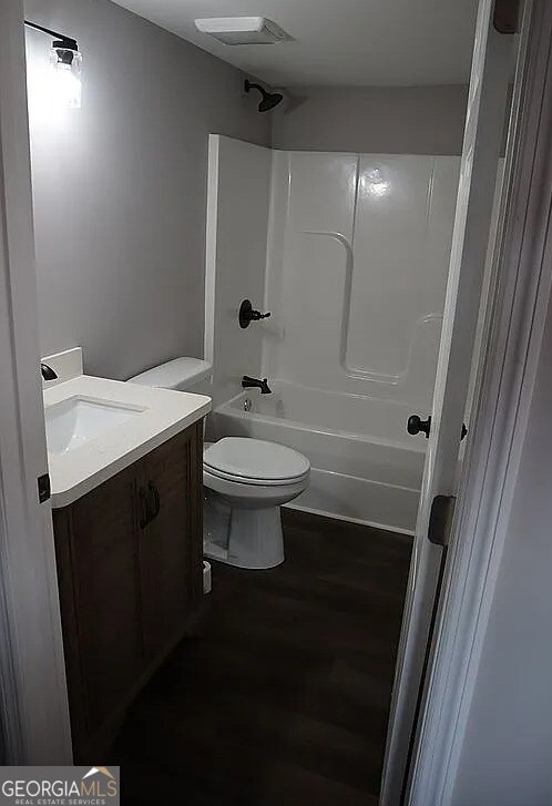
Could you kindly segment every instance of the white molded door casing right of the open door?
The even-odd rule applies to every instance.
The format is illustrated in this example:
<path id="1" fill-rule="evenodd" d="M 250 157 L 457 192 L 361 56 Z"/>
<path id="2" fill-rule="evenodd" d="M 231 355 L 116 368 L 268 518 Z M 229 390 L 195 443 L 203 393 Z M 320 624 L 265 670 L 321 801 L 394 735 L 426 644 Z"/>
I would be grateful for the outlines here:
<path id="1" fill-rule="evenodd" d="M 532 8 L 533 6 L 533 8 Z M 442 621 L 409 803 L 450 804 L 505 528 L 552 286 L 552 6 L 525 8 L 525 73 L 518 83 L 518 131 L 492 336 L 446 580 Z"/>

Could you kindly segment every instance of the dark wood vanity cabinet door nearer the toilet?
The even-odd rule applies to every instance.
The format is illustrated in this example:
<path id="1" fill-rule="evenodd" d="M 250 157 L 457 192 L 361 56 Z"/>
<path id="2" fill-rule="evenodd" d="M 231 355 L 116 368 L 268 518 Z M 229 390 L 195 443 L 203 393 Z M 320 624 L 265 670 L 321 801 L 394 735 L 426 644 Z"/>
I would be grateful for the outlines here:
<path id="1" fill-rule="evenodd" d="M 140 532 L 142 619 L 152 659 L 182 635 L 203 595 L 202 425 L 153 451 L 141 492 L 150 523 Z"/>

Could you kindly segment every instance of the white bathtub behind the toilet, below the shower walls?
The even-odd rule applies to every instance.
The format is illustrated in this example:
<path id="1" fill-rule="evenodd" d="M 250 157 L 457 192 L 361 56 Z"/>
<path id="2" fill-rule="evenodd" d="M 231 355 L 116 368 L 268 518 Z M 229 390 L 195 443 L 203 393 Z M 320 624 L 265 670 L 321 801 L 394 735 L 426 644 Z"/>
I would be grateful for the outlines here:
<path id="1" fill-rule="evenodd" d="M 412 534 L 425 445 L 406 431 L 402 404 L 270 381 L 213 412 L 222 437 L 266 439 L 310 460 L 309 489 L 289 507 Z"/>

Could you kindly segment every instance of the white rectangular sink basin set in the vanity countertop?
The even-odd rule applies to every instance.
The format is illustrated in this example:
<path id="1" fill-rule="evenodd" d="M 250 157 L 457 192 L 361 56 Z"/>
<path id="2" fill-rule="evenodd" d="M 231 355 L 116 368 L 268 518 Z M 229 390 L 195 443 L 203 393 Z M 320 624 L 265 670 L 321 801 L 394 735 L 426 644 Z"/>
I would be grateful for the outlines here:
<path id="1" fill-rule="evenodd" d="M 48 451 L 69 453 L 144 410 L 79 396 L 47 406 Z"/>

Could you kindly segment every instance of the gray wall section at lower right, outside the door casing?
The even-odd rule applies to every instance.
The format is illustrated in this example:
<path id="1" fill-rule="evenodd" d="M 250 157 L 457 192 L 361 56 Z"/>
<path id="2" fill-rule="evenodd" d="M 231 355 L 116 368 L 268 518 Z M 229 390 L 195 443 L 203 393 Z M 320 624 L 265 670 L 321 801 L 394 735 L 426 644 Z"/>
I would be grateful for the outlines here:
<path id="1" fill-rule="evenodd" d="M 552 803 L 552 309 L 453 806 Z"/>

